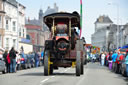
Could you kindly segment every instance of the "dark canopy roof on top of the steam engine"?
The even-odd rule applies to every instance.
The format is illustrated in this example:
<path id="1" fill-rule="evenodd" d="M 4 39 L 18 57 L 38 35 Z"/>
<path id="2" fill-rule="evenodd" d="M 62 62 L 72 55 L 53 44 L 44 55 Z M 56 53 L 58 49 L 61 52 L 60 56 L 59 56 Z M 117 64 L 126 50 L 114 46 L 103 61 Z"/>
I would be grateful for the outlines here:
<path id="1" fill-rule="evenodd" d="M 49 27 L 53 25 L 53 20 L 55 21 L 55 25 L 58 23 L 64 23 L 69 25 L 69 20 L 71 19 L 71 27 L 78 27 L 80 29 L 80 15 L 77 12 L 73 13 L 53 13 L 44 17 L 44 23 Z"/>

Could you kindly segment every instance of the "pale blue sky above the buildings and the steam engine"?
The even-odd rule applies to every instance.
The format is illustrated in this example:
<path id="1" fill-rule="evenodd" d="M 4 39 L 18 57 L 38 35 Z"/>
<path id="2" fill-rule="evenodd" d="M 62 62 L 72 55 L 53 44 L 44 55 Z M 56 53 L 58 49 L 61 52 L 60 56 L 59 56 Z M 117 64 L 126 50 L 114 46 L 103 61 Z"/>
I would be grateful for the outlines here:
<path id="1" fill-rule="evenodd" d="M 53 8 L 54 3 L 59 11 L 80 13 L 80 0 L 17 0 L 26 7 L 26 18 L 38 18 L 40 9 L 45 12 L 47 7 Z M 117 6 L 119 7 L 119 24 L 128 23 L 128 0 L 82 0 L 83 25 L 82 36 L 87 43 L 91 43 L 91 35 L 95 32 L 94 22 L 100 15 L 107 15 L 116 24 Z M 111 4 L 109 4 L 111 3 Z"/>

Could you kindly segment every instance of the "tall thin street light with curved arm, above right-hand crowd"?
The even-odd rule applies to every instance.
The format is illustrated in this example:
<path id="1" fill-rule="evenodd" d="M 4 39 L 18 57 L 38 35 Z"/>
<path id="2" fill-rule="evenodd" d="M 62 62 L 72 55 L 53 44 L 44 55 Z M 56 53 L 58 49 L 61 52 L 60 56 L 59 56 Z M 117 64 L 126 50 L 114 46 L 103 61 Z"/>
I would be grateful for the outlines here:
<path id="1" fill-rule="evenodd" d="M 116 32 L 116 36 L 117 36 L 117 46 L 116 48 L 118 49 L 119 47 L 119 39 L 118 39 L 118 35 L 119 35 L 119 4 L 117 3 L 108 3 L 108 5 L 115 5 L 117 7 L 117 32 Z"/>

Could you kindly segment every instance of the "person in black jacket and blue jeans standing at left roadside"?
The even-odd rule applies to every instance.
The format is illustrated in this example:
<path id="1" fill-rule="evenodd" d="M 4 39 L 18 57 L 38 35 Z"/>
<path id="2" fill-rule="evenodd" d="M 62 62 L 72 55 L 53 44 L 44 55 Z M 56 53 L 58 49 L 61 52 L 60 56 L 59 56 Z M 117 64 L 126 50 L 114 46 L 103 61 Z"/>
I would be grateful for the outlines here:
<path id="1" fill-rule="evenodd" d="M 12 47 L 12 49 L 9 52 L 9 56 L 10 56 L 10 72 L 14 73 L 16 72 L 16 51 L 14 50 L 14 47 Z"/>

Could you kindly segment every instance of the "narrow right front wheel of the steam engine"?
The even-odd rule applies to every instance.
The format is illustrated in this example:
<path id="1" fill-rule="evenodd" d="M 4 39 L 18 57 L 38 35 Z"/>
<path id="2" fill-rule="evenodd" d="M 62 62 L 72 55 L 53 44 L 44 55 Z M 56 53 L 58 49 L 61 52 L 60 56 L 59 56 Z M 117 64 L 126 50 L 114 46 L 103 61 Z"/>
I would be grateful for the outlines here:
<path id="1" fill-rule="evenodd" d="M 77 51 L 77 54 L 76 54 L 76 76 L 80 76 L 80 74 L 81 74 L 80 51 Z"/>

